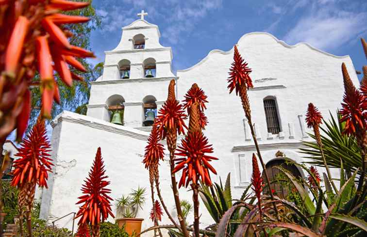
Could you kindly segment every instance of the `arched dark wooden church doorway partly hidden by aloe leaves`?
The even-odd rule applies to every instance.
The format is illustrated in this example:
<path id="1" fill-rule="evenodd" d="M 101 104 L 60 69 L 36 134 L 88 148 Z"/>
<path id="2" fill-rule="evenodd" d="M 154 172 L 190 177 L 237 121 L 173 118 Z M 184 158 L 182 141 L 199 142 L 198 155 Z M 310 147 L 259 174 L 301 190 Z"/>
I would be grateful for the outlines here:
<path id="1" fill-rule="evenodd" d="M 270 182 L 270 190 L 267 187 L 264 171 L 262 173 L 262 178 L 264 180 L 263 184 L 265 184 L 263 194 L 269 195 L 271 191 L 274 195 L 282 199 L 292 198 L 288 195 L 296 193 L 294 192 L 294 185 L 285 176 L 285 174 L 276 167 L 283 168 L 285 171 L 296 177 L 296 179 L 303 179 L 305 177 L 304 173 L 295 163 L 296 162 L 294 160 L 286 158 L 282 152 L 277 152 L 276 158 L 268 161 L 265 165 Z"/>

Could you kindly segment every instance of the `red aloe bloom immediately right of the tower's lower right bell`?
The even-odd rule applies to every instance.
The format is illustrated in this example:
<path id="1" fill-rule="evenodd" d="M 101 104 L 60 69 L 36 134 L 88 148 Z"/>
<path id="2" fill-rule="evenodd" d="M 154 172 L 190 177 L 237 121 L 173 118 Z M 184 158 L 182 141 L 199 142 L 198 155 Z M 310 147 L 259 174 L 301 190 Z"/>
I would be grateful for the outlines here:
<path id="1" fill-rule="evenodd" d="M 178 134 L 184 133 L 184 127 L 187 128 L 184 123 L 186 117 L 179 101 L 167 100 L 156 118 L 160 139 L 166 138 L 167 130 L 173 130 L 174 133 L 177 132 Z"/>

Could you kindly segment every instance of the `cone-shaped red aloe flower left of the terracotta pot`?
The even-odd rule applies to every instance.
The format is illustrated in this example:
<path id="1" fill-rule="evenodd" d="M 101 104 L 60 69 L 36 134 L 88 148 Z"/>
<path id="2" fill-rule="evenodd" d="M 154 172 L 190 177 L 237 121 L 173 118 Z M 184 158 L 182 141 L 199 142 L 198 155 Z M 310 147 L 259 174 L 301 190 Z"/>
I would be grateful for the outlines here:
<path id="1" fill-rule="evenodd" d="M 99 147 L 93 166 L 89 172 L 89 177 L 86 178 L 83 184 L 82 191 L 84 195 L 80 196 L 78 198 L 80 199 L 79 202 L 76 203 L 77 205 L 83 203 L 75 217 L 81 217 L 79 225 L 86 223 L 92 226 L 98 226 L 100 221 L 107 220 L 108 215 L 115 217 L 110 204 L 110 200 L 113 199 L 108 196 L 111 190 L 106 189 L 106 186 L 110 182 L 106 181 L 106 178 L 108 176 L 105 175 Z"/>

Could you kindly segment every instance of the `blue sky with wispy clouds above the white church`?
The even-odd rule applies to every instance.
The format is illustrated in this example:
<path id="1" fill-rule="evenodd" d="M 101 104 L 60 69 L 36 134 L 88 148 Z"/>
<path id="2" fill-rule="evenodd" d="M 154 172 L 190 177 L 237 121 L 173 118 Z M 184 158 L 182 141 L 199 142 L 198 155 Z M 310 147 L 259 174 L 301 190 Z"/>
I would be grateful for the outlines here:
<path id="1" fill-rule="evenodd" d="M 173 70 L 198 63 L 212 49 L 229 50 L 248 32 L 269 32 L 289 45 L 307 42 L 335 55 L 349 54 L 357 70 L 367 64 L 366 0 L 93 0 L 104 27 L 92 33 L 94 63 L 115 48 L 121 28 L 148 12 L 163 46 L 173 49 Z"/>

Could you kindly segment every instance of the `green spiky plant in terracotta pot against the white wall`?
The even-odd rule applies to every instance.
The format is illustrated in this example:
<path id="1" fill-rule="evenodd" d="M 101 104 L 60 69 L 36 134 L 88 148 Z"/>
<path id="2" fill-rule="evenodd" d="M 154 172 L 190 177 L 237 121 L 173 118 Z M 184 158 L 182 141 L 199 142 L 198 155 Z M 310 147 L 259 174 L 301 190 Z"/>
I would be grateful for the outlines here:
<path id="1" fill-rule="evenodd" d="M 125 231 L 132 236 L 141 231 L 141 222 L 143 218 L 136 218 L 139 209 L 143 209 L 145 204 L 146 188 L 138 187 L 132 190 L 129 195 L 122 195 L 117 199 L 116 222 L 120 228 L 125 226 Z"/>

